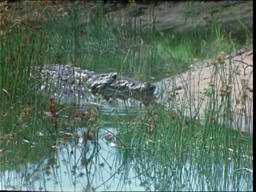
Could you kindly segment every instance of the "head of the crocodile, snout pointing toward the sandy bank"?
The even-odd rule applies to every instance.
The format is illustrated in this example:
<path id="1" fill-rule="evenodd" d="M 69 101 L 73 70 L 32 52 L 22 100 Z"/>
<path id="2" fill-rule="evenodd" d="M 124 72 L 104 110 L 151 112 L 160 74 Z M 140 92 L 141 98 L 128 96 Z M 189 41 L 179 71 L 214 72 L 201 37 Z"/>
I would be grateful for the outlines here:
<path id="1" fill-rule="evenodd" d="M 101 74 L 97 80 L 90 84 L 93 94 L 99 93 L 106 99 L 133 98 L 141 101 L 144 105 L 148 105 L 154 99 L 154 91 L 156 86 L 147 82 L 142 83 L 132 78 L 120 76 L 117 73 Z"/>

